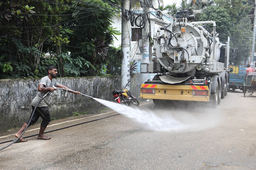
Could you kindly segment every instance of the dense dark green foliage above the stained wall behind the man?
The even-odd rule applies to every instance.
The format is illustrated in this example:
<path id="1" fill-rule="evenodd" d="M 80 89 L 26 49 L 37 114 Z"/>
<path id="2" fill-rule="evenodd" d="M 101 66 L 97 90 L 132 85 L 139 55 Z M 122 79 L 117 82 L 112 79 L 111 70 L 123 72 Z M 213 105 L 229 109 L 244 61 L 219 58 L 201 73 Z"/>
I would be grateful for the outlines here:
<path id="1" fill-rule="evenodd" d="M 101 0 L 1 2 L 0 78 L 43 77 L 50 64 L 60 76 L 105 75 L 109 46 L 121 34 L 111 26 L 115 10 Z"/>

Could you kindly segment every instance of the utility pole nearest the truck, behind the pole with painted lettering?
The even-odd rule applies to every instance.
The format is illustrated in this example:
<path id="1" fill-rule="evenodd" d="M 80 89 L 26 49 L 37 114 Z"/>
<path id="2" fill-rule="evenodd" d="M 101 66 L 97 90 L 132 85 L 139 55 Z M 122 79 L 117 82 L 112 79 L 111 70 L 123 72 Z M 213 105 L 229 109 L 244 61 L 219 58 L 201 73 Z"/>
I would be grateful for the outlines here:
<path id="1" fill-rule="evenodd" d="M 146 0 L 147 4 L 149 4 L 148 1 Z M 142 2 L 142 8 L 143 8 L 143 14 L 146 16 L 146 14 L 149 16 L 149 7 L 145 4 L 145 1 Z M 143 46 L 143 54 L 142 54 L 142 61 L 141 63 L 149 63 L 149 40 L 148 40 L 148 35 L 149 35 L 149 23 L 148 20 L 144 22 L 144 28 L 142 28 L 142 46 Z M 144 83 L 145 81 L 148 80 L 148 73 L 143 73 L 141 74 L 141 83 Z"/>

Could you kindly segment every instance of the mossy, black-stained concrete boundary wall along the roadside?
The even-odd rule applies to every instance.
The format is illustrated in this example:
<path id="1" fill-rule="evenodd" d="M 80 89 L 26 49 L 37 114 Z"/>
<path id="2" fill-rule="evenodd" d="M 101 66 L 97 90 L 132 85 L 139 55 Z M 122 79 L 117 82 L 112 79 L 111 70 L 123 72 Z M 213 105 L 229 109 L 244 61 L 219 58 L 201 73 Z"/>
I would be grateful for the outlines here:
<path id="1" fill-rule="evenodd" d="M 21 127 L 31 114 L 31 101 L 36 96 L 41 78 L 1 79 L 0 80 L 0 132 Z M 139 98 L 140 74 L 131 78 L 131 92 Z M 112 91 L 121 90 L 121 76 L 70 77 L 56 78 L 56 81 L 72 90 L 103 100 L 113 101 Z M 84 95 L 58 90 L 50 97 L 49 111 L 51 117 L 60 119 L 73 115 L 72 112 L 95 113 L 105 106 Z M 41 122 L 41 118 L 38 122 Z"/>

